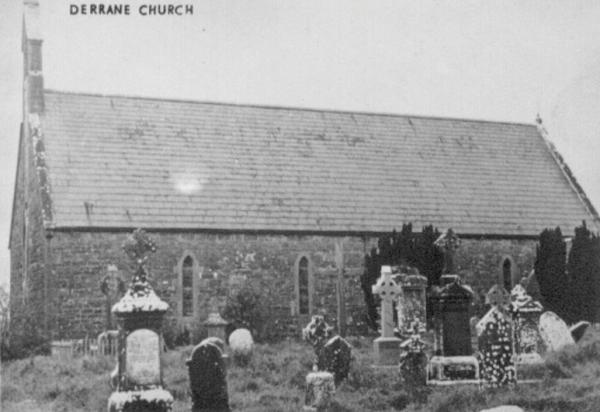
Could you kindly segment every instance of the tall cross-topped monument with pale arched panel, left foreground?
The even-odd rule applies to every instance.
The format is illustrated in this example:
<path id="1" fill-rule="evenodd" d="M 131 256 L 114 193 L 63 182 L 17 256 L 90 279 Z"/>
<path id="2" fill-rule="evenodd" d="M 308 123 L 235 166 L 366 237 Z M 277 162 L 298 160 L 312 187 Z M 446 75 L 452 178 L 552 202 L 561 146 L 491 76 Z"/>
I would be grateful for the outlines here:
<path id="1" fill-rule="evenodd" d="M 162 387 L 160 362 L 160 333 L 169 305 L 154 293 L 145 268 L 156 246 L 137 229 L 123 249 L 137 269 L 129 289 L 112 308 L 119 326 L 118 362 L 111 376 L 115 391 L 108 399 L 108 411 L 170 411 L 173 397 Z"/>

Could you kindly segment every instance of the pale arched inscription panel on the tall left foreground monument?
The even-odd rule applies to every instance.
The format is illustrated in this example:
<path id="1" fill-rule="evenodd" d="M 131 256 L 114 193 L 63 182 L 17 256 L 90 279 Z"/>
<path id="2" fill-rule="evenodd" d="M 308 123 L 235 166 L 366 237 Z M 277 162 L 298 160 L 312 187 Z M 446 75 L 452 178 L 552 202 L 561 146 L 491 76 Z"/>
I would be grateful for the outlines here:
<path id="1" fill-rule="evenodd" d="M 160 338 L 150 329 L 138 329 L 127 336 L 125 371 L 137 385 L 160 384 Z"/>

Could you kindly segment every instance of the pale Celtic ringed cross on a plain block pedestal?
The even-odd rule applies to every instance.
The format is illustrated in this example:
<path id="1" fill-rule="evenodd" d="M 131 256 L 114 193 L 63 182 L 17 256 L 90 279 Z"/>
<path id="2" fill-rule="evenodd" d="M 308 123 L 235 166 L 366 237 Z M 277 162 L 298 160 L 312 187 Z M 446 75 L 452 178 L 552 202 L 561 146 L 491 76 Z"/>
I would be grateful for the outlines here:
<path id="1" fill-rule="evenodd" d="M 392 268 L 381 267 L 381 277 L 372 287 L 381 297 L 381 336 L 373 342 L 377 365 L 397 365 L 402 341 L 394 336 L 394 301 L 402 288 L 392 279 Z"/>

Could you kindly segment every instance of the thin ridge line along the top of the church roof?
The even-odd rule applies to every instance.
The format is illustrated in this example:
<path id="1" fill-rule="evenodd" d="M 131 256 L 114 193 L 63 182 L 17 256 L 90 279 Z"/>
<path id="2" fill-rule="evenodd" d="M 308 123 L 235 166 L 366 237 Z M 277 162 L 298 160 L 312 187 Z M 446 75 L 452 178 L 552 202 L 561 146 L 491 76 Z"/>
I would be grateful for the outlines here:
<path id="1" fill-rule="evenodd" d="M 166 98 L 166 97 L 151 97 L 151 96 L 139 96 L 139 95 L 125 95 L 125 94 L 103 94 L 103 93 L 92 93 L 92 92 L 76 92 L 76 91 L 65 91 L 55 89 L 44 89 L 44 93 L 54 94 L 70 94 L 79 96 L 92 96 L 92 97 L 106 97 L 106 98 L 122 98 L 122 99 L 138 99 L 138 100 L 151 100 L 161 102 L 172 102 L 172 103 L 192 103 L 192 104 L 205 104 L 205 105 L 218 105 L 218 106 L 233 106 L 233 107 L 249 107 L 257 109 L 269 109 L 269 110 L 295 110 L 295 111 L 306 111 L 306 112 L 318 112 L 318 113 L 337 113 L 337 114 L 358 114 L 366 116 L 386 116 L 396 118 L 418 118 L 418 119 L 432 119 L 432 120 L 450 120 L 450 121 L 462 121 L 469 123 L 492 123 L 492 124 L 507 124 L 515 126 L 527 126 L 536 127 L 534 123 L 524 122 L 511 122 L 502 120 L 488 120 L 488 119 L 473 119 L 464 117 L 444 117 L 444 116 L 428 116 L 418 114 L 401 114 L 401 113 L 389 113 L 389 112 L 369 112 L 360 110 L 337 110 L 337 109 L 319 109 L 315 107 L 296 107 L 296 106 L 277 106 L 277 105 L 266 105 L 256 103 L 233 103 L 233 102 L 217 102 L 217 101 L 206 101 L 206 100 L 194 100 L 194 99 L 178 99 L 178 98 Z"/>

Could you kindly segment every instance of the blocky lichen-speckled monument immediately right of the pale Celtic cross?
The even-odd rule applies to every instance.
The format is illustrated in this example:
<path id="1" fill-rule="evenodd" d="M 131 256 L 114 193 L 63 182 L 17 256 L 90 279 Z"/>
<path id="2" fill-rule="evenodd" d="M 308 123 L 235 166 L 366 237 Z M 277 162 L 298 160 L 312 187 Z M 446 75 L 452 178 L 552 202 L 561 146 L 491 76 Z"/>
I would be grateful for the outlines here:
<path id="1" fill-rule="evenodd" d="M 401 280 L 402 294 L 396 304 L 398 330 L 401 335 L 410 335 L 413 322 L 427 322 L 427 278 L 421 275 L 406 275 Z"/>

